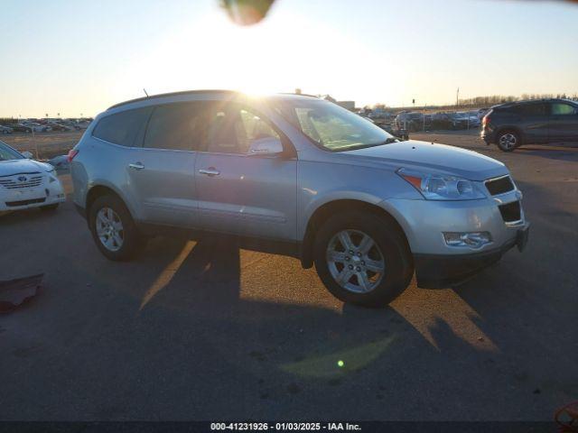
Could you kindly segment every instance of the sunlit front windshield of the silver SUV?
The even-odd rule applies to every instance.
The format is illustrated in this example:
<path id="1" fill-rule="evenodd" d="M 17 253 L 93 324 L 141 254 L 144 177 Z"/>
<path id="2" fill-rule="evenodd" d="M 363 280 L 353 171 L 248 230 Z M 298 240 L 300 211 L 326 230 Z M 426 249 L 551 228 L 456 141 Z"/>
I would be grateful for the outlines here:
<path id="1" fill-rule="evenodd" d="M 274 102 L 275 110 L 314 143 L 332 152 L 395 142 L 379 126 L 331 102 L 299 98 Z"/>

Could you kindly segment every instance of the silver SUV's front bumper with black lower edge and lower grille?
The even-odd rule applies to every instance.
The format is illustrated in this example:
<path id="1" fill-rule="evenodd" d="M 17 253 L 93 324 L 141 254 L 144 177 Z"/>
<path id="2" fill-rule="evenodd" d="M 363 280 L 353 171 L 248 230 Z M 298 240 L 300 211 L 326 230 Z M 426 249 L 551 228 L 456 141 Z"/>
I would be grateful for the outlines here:
<path id="1" fill-rule="evenodd" d="M 497 181 L 501 177 L 489 180 Z M 480 189 L 486 188 L 485 180 Z M 493 188 L 497 188 L 495 187 Z M 482 189 L 483 190 L 483 189 Z M 528 226 L 516 188 L 480 200 L 435 201 L 388 199 L 382 206 L 406 234 L 414 255 L 417 284 L 424 288 L 447 287 L 468 279 L 499 261 L 513 246 L 526 246 Z M 510 205 L 517 204 L 511 207 Z M 443 233 L 488 232 L 491 241 L 478 248 L 450 245 Z"/>

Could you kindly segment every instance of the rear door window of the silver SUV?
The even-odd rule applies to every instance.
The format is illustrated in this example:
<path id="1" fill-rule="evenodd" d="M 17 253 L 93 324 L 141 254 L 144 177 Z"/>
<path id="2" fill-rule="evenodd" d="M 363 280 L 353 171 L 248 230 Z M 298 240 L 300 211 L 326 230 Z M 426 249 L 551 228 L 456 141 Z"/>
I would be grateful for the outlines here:
<path id="1" fill-rule="evenodd" d="M 144 147 L 194 151 L 207 136 L 207 115 L 202 103 L 177 103 L 154 108 L 146 128 Z"/>

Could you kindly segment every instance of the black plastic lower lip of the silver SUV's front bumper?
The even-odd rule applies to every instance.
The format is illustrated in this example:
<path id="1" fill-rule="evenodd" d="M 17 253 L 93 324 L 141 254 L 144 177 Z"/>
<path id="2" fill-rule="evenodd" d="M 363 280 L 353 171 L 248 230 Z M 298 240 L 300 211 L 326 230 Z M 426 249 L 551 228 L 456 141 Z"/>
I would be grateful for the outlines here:
<path id="1" fill-rule="evenodd" d="M 460 255 L 415 254 L 415 276 L 417 285 L 423 289 L 441 289 L 465 280 L 497 263 L 504 253 L 517 246 L 521 252 L 527 244 L 529 224 L 517 229 L 514 238 L 495 248 L 482 253 Z"/>

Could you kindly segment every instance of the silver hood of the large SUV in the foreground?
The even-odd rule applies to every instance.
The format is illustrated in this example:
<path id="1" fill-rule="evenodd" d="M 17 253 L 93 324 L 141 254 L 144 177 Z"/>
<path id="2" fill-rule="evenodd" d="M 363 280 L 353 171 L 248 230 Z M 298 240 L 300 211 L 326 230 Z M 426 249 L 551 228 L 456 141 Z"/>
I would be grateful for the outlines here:
<path id="1" fill-rule="evenodd" d="M 445 144 L 409 140 L 342 152 L 367 162 L 387 163 L 394 168 L 430 170 L 467 180 L 486 180 L 508 174 L 508 168 L 478 152 Z"/>

